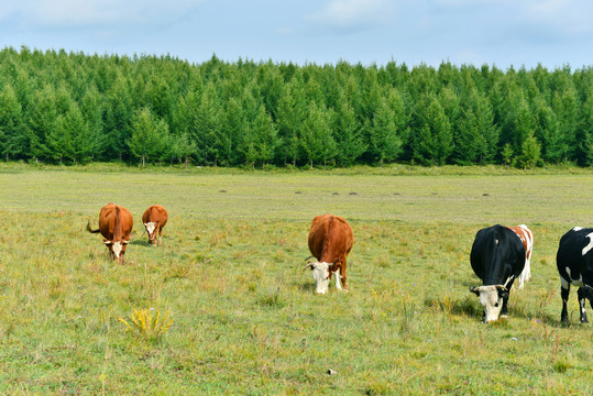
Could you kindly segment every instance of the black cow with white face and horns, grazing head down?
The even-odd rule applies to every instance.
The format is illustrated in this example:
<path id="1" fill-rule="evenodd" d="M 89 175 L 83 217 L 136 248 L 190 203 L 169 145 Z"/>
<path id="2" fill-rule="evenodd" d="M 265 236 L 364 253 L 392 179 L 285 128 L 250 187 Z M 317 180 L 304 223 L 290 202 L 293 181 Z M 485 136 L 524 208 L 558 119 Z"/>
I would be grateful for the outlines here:
<path id="1" fill-rule="evenodd" d="M 473 272 L 482 286 L 470 287 L 480 296 L 484 322 L 506 318 L 507 301 L 515 278 L 525 268 L 525 248 L 515 232 L 503 226 L 477 231 L 470 253 Z"/>

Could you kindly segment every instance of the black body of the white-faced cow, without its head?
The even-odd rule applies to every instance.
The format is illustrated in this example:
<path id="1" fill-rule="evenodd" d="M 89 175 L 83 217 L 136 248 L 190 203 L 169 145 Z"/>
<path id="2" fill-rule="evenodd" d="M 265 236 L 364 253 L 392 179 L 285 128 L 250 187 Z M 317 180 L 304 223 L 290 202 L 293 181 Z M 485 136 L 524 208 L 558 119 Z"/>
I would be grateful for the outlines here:
<path id="1" fill-rule="evenodd" d="M 496 224 L 477 231 L 470 261 L 484 285 L 504 285 L 525 267 L 525 248 L 514 231 Z"/>

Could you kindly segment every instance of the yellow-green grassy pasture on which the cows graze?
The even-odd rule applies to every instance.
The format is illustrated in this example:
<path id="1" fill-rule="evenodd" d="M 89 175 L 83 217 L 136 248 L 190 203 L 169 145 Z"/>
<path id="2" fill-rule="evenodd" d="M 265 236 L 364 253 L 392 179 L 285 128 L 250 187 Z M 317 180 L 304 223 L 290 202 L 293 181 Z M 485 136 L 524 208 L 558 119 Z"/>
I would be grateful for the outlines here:
<path id="1" fill-rule="evenodd" d="M 575 288 L 559 323 L 554 258 L 593 226 L 591 173 L 100 170 L 0 168 L 0 394 L 593 393 L 593 328 Z M 134 216 L 124 265 L 85 231 L 109 201 Z M 349 294 L 300 272 L 323 212 L 354 231 Z M 494 223 L 534 231 L 532 278 L 485 326 L 469 252 Z M 162 337 L 119 320 L 144 308 L 169 311 Z"/>

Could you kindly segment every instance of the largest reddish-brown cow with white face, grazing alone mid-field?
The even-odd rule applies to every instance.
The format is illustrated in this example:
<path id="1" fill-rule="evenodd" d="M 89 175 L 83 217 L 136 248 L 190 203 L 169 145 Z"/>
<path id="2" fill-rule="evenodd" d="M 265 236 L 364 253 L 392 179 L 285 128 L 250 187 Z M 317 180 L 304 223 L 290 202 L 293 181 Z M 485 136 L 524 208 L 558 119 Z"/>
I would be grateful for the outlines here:
<path id="1" fill-rule="evenodd" d="M 354 234 L 348 222 L 338 216 L 321 215 L 312 220 L 309 231 L 309 250 L 316 263 L 307 263 L 307 268 L 311 268 L 316 282 L 316 293 L 326 294 L 328 290 L 331 274 L 336 273 L 336 288 L 341 290 L 340 279 L 343 288 L 348 292 L 345 284 L 345 257 L 352 250 Z M 338 270 L 340 277 L 338 277 Z"/>

